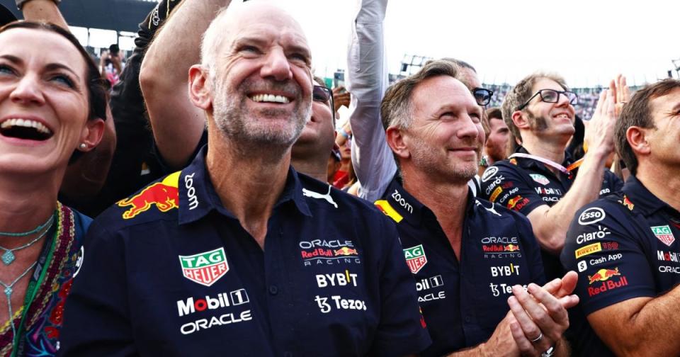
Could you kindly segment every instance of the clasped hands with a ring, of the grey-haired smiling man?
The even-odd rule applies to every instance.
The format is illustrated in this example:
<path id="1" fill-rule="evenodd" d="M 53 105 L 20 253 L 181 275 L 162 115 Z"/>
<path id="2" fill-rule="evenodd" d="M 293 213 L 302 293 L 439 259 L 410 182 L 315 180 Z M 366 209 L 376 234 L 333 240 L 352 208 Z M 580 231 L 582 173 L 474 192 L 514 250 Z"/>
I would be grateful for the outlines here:
<path id="1" fill-rule="evenodd" d="M 528 285 L 528 291 L 519 285 L 513 287 L 514 296 L 508 299 L 513 314 L 509 326 L 523 355 L 540 356 L 562 339 L 569 327 L 567 308 L 579 302 L 576 295 L 569 295 L 576 287 L 577 278 L 577 274 L 570 271 L 543 288 L 533 283 Z"/>

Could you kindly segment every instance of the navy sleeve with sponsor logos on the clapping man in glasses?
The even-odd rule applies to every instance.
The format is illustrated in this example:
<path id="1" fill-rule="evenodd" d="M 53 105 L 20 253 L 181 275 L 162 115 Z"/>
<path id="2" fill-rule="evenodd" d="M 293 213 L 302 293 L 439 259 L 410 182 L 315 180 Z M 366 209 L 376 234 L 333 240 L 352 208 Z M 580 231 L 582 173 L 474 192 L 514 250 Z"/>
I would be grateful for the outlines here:
<path id="1" fill-rule="evenodd" d="M 528 215 L 545 205 L 535 191 L 535 184 L 521 168 L 509 162 L 497 162 L 482 175 L 481 197 L 509 210 Z"/>

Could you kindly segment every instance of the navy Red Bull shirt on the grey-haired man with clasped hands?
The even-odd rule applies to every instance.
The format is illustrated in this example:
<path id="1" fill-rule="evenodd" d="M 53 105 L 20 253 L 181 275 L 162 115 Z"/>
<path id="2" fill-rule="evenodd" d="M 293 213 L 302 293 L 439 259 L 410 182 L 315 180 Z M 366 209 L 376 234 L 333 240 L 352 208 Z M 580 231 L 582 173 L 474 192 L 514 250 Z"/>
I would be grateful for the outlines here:
<path id="1" fill-rule="evenodd" d="M 545 277 L 540 249 L 526 217 L 468 192 L 460 257 L 434 213 L 393 179 L 375 205 L 397 222 L 403 256 L 414 278 L 432 346 L 442 356 L 476 346 L 493 334 L 510 310 L 514 285 Z"/>

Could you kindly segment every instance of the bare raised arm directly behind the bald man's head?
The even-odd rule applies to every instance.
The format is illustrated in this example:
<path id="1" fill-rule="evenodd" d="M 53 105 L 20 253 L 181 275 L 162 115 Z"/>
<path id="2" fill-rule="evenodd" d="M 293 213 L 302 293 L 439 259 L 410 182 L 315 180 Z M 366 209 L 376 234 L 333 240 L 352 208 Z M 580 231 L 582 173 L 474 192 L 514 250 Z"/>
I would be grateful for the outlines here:
<path id="1" fill-rule="evenodd" d="M 203 134 L 205 118 L 188 97 L 189 67 L 199 62 L 201 36 L 229 0 L 184 0 L 149 46 L 140 72 L 149 120 L 160 154 L 179 169 Z"/>

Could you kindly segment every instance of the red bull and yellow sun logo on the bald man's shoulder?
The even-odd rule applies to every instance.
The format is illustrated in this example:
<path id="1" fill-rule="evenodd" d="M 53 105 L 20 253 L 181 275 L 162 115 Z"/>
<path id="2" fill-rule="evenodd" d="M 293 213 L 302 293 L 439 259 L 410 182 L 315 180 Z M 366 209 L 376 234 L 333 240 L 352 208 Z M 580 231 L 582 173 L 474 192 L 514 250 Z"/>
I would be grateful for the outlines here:
<path id="1" fill-rule="evenodd" d="M 162 182 L 154 183 L 130 198 L 118 201 L 120 207 L 130 207 L 123 212 L 123 219 L 129 220 L 156 205 L 161 212 L 179 208 L 179 174 L 170 174 Z"/>

